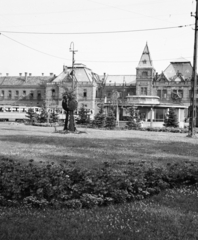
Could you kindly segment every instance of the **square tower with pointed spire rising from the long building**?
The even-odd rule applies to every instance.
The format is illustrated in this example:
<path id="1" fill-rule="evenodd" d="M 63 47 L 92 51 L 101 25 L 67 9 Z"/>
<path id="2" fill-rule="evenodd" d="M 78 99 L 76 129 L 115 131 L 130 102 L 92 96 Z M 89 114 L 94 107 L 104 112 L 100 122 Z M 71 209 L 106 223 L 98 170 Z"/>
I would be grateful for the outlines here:
<path id="1" fill-rule="evenodd" d="M 136 68 L 136 95 L 153 95 L 155 69 L 151 60 L 148 44 L 144 48 Z"/>

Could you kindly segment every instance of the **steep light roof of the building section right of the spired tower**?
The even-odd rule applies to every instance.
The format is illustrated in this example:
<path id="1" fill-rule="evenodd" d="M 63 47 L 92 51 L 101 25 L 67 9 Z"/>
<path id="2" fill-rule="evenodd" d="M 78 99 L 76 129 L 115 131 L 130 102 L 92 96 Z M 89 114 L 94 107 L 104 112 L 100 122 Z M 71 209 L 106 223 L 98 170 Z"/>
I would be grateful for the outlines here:
<path id="1" fill-rule="evenodd" d="M 175 60 L 163 72 L 169 81 L 185 81 L 192 77 L 192 65 L 185 59 Z"/>

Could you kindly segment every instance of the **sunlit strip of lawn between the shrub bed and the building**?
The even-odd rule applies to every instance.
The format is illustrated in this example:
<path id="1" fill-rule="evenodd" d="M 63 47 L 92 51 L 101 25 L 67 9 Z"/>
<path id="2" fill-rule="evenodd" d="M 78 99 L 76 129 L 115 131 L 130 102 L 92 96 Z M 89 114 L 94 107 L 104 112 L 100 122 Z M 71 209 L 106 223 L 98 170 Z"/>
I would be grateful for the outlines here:
<path id="1" fill-rule="evenodd" d="M 59 127 L 58 130 L 61 128 Z M 80 129 L 82 134 L 54 133 L 54 128 L 0 123 L 0 156 L 35 161 L 73 162 L 95 167 L 101 162 L 198 161 L 198 140 L 181 133 Z"/>

